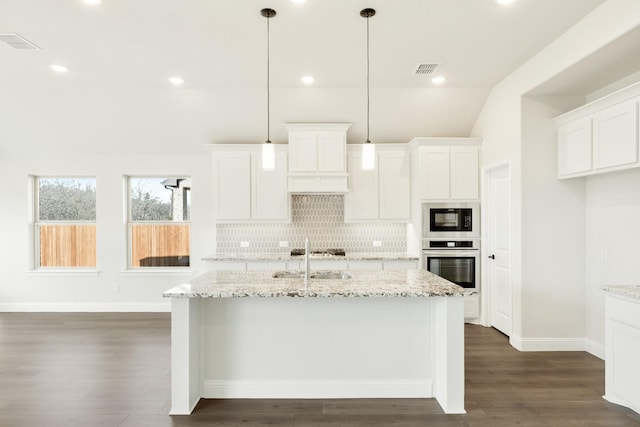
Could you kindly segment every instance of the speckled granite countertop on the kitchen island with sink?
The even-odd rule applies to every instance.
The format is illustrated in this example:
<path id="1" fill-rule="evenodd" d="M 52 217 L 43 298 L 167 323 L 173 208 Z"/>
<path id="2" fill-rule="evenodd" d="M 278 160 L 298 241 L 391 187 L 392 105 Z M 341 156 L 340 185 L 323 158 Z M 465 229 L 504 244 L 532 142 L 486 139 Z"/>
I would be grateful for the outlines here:
<path id="1" fill-rule="evenodd" d="M 426 270 L 349 271 L 349 279 L 273 278 L 275 271 L 210 271 L 163 293 L 167 298 L 449 297 L 472 293 Z M 316 273 L 316 271 L 312 271 Z"/>

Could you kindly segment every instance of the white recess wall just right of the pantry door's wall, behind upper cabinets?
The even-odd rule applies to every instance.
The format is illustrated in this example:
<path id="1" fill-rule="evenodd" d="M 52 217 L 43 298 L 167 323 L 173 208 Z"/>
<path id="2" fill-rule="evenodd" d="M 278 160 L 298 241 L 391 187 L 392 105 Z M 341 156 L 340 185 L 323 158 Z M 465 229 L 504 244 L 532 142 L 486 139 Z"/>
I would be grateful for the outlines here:
<path id="1" fill-rule="evenodd" d="M 580 350 L 585 336 L 584 182 L 557 179 L 551 120 L 575 102 L 575 97 L 522 99 L 524 304 L 519 346 L 531 350 L 548 349 L 550 342 L 551 349 Z"/>

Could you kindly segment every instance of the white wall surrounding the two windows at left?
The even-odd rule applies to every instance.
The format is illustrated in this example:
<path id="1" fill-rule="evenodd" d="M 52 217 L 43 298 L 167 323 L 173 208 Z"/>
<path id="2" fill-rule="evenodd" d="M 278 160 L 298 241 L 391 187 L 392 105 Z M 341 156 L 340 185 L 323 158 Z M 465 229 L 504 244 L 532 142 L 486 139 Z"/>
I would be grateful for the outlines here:
<path id="1" fill-rule="evenodd" d="M 203 147 L 204 148 L 204 147 Z M 29 273 L 29 175 L 95 176 L 97 194 L 96 275 Z M 168 310 L 161 294 L 188 279 L 178 275 L 127 273 L 124 214 L 125 175 L 192 177 L 191 265 L 215 248 L 211 212 L 210 156 L 77 156 L 71 153 L 3 157 L 0 222 L 0 311 L 158 311 Z M 114 283 L 119 291 L 114 291 Z"/>

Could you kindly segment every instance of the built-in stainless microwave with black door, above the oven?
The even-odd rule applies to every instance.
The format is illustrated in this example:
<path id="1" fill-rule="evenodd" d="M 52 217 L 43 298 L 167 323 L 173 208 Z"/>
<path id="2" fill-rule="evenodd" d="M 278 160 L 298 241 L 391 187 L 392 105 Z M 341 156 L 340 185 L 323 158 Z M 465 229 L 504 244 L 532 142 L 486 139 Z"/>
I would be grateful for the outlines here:
<path id="1" fill-rule="evenodd" d="M 425 203 L 422 205 L 424 239 L 480 237 L 478 203 Z"/>

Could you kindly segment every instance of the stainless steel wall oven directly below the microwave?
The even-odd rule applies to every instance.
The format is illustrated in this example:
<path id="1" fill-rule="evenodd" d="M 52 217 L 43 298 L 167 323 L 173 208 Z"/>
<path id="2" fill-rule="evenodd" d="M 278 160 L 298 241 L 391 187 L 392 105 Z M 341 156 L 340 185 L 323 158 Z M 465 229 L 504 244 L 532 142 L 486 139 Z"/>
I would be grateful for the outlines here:
<path id="1" fill-rule="evenodd" d="M 438 276 L 469 290 L 480 290 L 479 241 L 424 240 L 423 266 Z"/>

